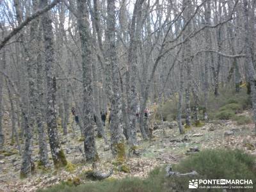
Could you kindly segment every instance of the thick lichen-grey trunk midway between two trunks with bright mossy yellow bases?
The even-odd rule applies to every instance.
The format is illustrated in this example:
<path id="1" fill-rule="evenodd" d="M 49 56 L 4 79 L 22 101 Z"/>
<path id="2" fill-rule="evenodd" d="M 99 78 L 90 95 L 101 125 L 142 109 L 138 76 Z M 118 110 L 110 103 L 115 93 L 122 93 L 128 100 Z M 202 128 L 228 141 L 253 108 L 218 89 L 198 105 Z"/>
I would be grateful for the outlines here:
<path id="1" fill-rule="evenodd" d="M 89 16 L 86 0 L 77 0 L 77 24 L 81 40 L 81 56 L 83 67 L 83 121 L 84 121 L 84 153 L 86 161 L 99 159 L 95 146 L 93 130 L 93 90 L 92 90 L 92 42 L 90 39 Z"/>

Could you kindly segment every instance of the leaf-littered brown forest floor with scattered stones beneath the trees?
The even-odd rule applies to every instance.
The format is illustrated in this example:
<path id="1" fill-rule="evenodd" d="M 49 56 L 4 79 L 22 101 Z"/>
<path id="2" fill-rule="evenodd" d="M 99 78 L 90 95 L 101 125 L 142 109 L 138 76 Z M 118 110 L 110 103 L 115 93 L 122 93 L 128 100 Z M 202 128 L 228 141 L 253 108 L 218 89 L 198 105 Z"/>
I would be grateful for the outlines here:
<path id="1" fill-rule="evenodd" d="M 244 111 L 243 115 L 252 116 L 252 113 Z M 6 127 L 10 127 L 8 124 L 9 122 L 6 120 Z M 216 120 L 202 127 L 191 127 L 186 131 L 186 134 L 182 135 L 179 134 L 178 127 L 173 129 L 166 127 L 165 135 L 163 134 L 163 129 L 156 129 L 154 130 L 152 141 L 143 141 L 138 133 L 140 156 L 127 157 L 126 164 L 129 168 L 129 173 L 124 173 L 117 168 L 111 177 L 117 179 L 127 176 L 147 177 L 148 172 L 156 166 L 179 163 L 181 159 L 189 156 L 187 152 L 189 148 L 199 148 L 200 150 L 204 148 L 240 148 L 250 154 L 256 154 L 256 138 L 253 136 L 253 132 L 254 124 L 237 125 L 231 120 Z M 9 133 L 10 136 L 10 129 L 7 130 L 6 128 L 5 133 Z M 182 140 L 185 136 L 186 139 Z M 76 136 L 70 129 L 68 135 L 61 136 L 60 140 L 68 161 L 72 163 L 71 168 L 63 168 L 56 171 L 51 166 L 51 170 L 38 169 L 35 175 L 31 175 L 27 179 L 20 179 L 21 160 L 19 153 L 6 138 L 5 155 L 0 154 L 0 191 L 36 191 L 36 189 L 42 189 L 67 179 L 72 179 L 92 168 L 91 164 L 83 163 L 83 154 L 78 149 L 80 147 L 83 150 L 83 141 L 78 129 L 76 130 Z M 111 156 L 111 150 L 104 150 L 106 145 L 100 138 L 97 138 L 96 144 L 100 157 L 98 169 L 102 172 L 109 172 L 113 167 L 114 161 Z M 38 156 L 38 143 L 36 142 L 33 144 L 33 154 Z M 51 157 L 50 152 L 49 157 Z M 38 161 L 38 157 L 35 157 L 35 161 Z"/>

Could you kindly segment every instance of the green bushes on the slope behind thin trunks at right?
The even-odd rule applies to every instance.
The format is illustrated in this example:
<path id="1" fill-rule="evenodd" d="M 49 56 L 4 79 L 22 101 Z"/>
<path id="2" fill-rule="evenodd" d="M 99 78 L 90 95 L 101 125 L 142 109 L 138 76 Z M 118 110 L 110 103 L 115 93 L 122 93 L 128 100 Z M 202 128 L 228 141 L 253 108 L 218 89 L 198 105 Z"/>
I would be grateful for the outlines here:
<path id="1" fill-rule="evenodd" d="M 172 100 L 168 100 L 157 109 L 156 119 L 161 120 L 161 115 L 163 116 L 163 120 L 172 121 L 177 118 L 177 106 L 178 106 L 178 98 L 172 97 Z M 185 102 L 185 100 L 183 100 Z M 191 95 L 191 115 L 193 116 L 193 104 L 194 99 Z M 184 106 L 182 104 L 182 118 L 185 118 Z M 207 113 L 209 119 L 219 118 L 219 119 L 230 119 L 232 118 L 234 113 L 241 113 L 245 109 L 251 108 L 252 103 L 250 100 L 250 95 L 246 94 L 246 89 L 242 88 L 239 93 L 234 92 L 234 90 L 230 90 L 227 87 L 220 88 L 220 95 L 216 97 L 213 93 L 209 95 L 208 99 L 208 107 Z M 199 118 L 204 119 L 204 95 L 200 95 L 200 103 L 198 106 L 199 110 Z M 225 111 L 221 113 L 221 111 Z M 161 114 L 161 115 L 160 115 Z"/>

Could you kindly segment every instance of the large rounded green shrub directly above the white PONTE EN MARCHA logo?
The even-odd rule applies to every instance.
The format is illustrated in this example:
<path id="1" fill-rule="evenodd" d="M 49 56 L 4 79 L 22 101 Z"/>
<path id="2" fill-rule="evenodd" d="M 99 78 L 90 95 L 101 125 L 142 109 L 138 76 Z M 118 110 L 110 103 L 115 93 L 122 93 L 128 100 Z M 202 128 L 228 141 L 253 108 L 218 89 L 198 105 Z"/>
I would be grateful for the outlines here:
<path id="1" fill-rule="evenodd" d="M 175 166 L 179 172 L 196 170 L 203 179 L 256 179 L 255 157 L 241 150 L 209 149 Z"/>

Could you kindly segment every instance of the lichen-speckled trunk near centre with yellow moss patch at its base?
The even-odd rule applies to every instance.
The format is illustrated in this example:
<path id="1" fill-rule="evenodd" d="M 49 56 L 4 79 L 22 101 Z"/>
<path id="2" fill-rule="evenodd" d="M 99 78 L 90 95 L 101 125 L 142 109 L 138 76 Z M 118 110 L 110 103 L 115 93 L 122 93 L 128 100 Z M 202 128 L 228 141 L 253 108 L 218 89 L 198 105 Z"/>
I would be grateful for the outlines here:
<path id="1" fill-rule="evenodd" d="M 108 40 L 108 67 L 111 71 L 111 150 L 118 160 L 125 159 L 124 138 L 122 136 L 122 100 L 119 87 L 118 65 L 116 61 L 116 35 L 115 35 L 115 0 L 108 0 L 108 19 L 106 37 Z"/>

